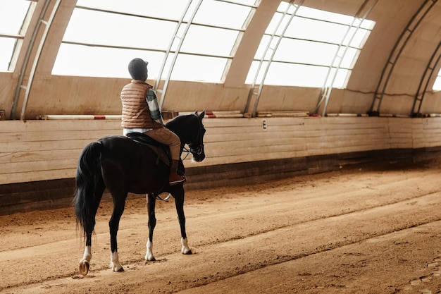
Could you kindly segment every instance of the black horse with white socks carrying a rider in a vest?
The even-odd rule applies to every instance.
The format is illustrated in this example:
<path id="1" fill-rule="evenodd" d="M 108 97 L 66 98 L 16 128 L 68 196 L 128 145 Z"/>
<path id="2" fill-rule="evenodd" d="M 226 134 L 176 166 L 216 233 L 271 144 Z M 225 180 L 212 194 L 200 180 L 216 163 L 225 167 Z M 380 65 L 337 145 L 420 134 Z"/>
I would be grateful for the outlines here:
<path id="1" fill-rule="evenodd" d="M 194 114 L 177 116 L 166 123 L 166 128 L 180 137 L 180 154 L 182 155 L 185 145 L 188 145 L 190 150 L 186 149 L 186 152 L 191 153 L 192 161 L 196 162 L 205 159 L 204 134 L 206 130 L 202 123 L 204 115 L 205 111 L 201 114 L 196 111 Z M 184 171 L 182 160 L 179 161 L 178 170 Z M 85 238 L 85 252 L 78 266 L 81 274 L 87 275 L 89 272 L 95 216 L 106 188 L 113 200 L 113 212 L 108 222 L 112 271 L 124 270 L 119 262 L 116 235 L 128 192 L 147 195 L 149 238 L 146 245 L 146 261 L 155 260 L 153 255 L 153 231 L 156 226 L 155 203 L 156 197 L 159 197 L 162 192 L 168 192 L 175 198 L 181 233 L 181 252 L 184 255 L 192 254 L 187 244 L 185 231 L 184 186 L 183 183 L 169 185 L 169 171 L 170 166 L 160 161 L 156 152 L 148 145 L 121 135 L 102 137 L 82 150 L 75 173 L 76 188 L 73 199 L 77 226 L 82 228 Z"/>

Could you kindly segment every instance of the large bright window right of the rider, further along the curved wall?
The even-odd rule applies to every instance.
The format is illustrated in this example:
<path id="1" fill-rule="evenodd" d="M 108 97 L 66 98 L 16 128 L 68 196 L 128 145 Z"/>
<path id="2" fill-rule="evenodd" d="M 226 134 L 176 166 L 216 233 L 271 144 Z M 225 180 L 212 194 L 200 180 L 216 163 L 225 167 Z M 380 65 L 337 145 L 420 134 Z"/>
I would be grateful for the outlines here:
<path id="1" fill-rule="evenodd" d="M 261 39 L 247 83 L 256 79 L 267 85 L 345 87 L 373 25 L 371 20 L 282 1 Z M 325 85 L 328 80 L 332 85 Z"/>

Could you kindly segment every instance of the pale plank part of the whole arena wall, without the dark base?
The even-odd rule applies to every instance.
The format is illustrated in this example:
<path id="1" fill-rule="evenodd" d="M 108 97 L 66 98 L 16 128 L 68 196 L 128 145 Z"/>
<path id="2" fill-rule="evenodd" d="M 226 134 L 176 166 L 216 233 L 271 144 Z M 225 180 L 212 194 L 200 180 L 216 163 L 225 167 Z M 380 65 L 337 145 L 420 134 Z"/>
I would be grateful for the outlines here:
<path id="1" fill-rule="evenodd" d="M 441 118 L 205 118 L 204 125 L 206 160 L 192 164 L 189 156 L 187 169 L 441 147 Z M 73 178 L 85 145 L 121 133 L 119 121 L 2 121 L 0 189 L 9 183 Z"/>

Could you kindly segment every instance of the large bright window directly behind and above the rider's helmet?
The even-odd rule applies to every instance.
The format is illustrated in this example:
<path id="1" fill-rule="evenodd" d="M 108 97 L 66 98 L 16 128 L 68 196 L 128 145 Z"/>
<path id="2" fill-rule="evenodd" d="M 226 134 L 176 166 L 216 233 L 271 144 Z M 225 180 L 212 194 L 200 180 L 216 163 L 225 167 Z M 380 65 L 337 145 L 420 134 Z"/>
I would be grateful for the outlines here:
<path id="1" fill-rule="evenodd" d="M 221 82 L 252 9 L 254 0 L 78 0 L 52 73 L 127 78 L 139 57 L 152 79 Z"/>

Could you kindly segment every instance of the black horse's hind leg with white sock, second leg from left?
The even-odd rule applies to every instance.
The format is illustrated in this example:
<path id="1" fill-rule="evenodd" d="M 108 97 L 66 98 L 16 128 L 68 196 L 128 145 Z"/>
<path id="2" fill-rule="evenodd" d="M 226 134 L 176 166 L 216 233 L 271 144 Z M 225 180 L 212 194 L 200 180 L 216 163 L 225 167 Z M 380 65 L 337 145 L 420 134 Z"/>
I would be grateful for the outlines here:
<path id="1" fill-rule="evenodd" d="M 118 257 L 118 243 L 116 241 L 116 235 L 118 233 L 118 228 L 120 224 L 121 216 L 124 212 L 125 198 L 127 197 L 127 192 L 111 192 L 113 197 L 113 212 L 110 221 L 108 221 L 108 226 L 110 228 L 111 235 L 111 262 L 110 267 L 112 271 L 124 271 L 120 264 Z"/>

